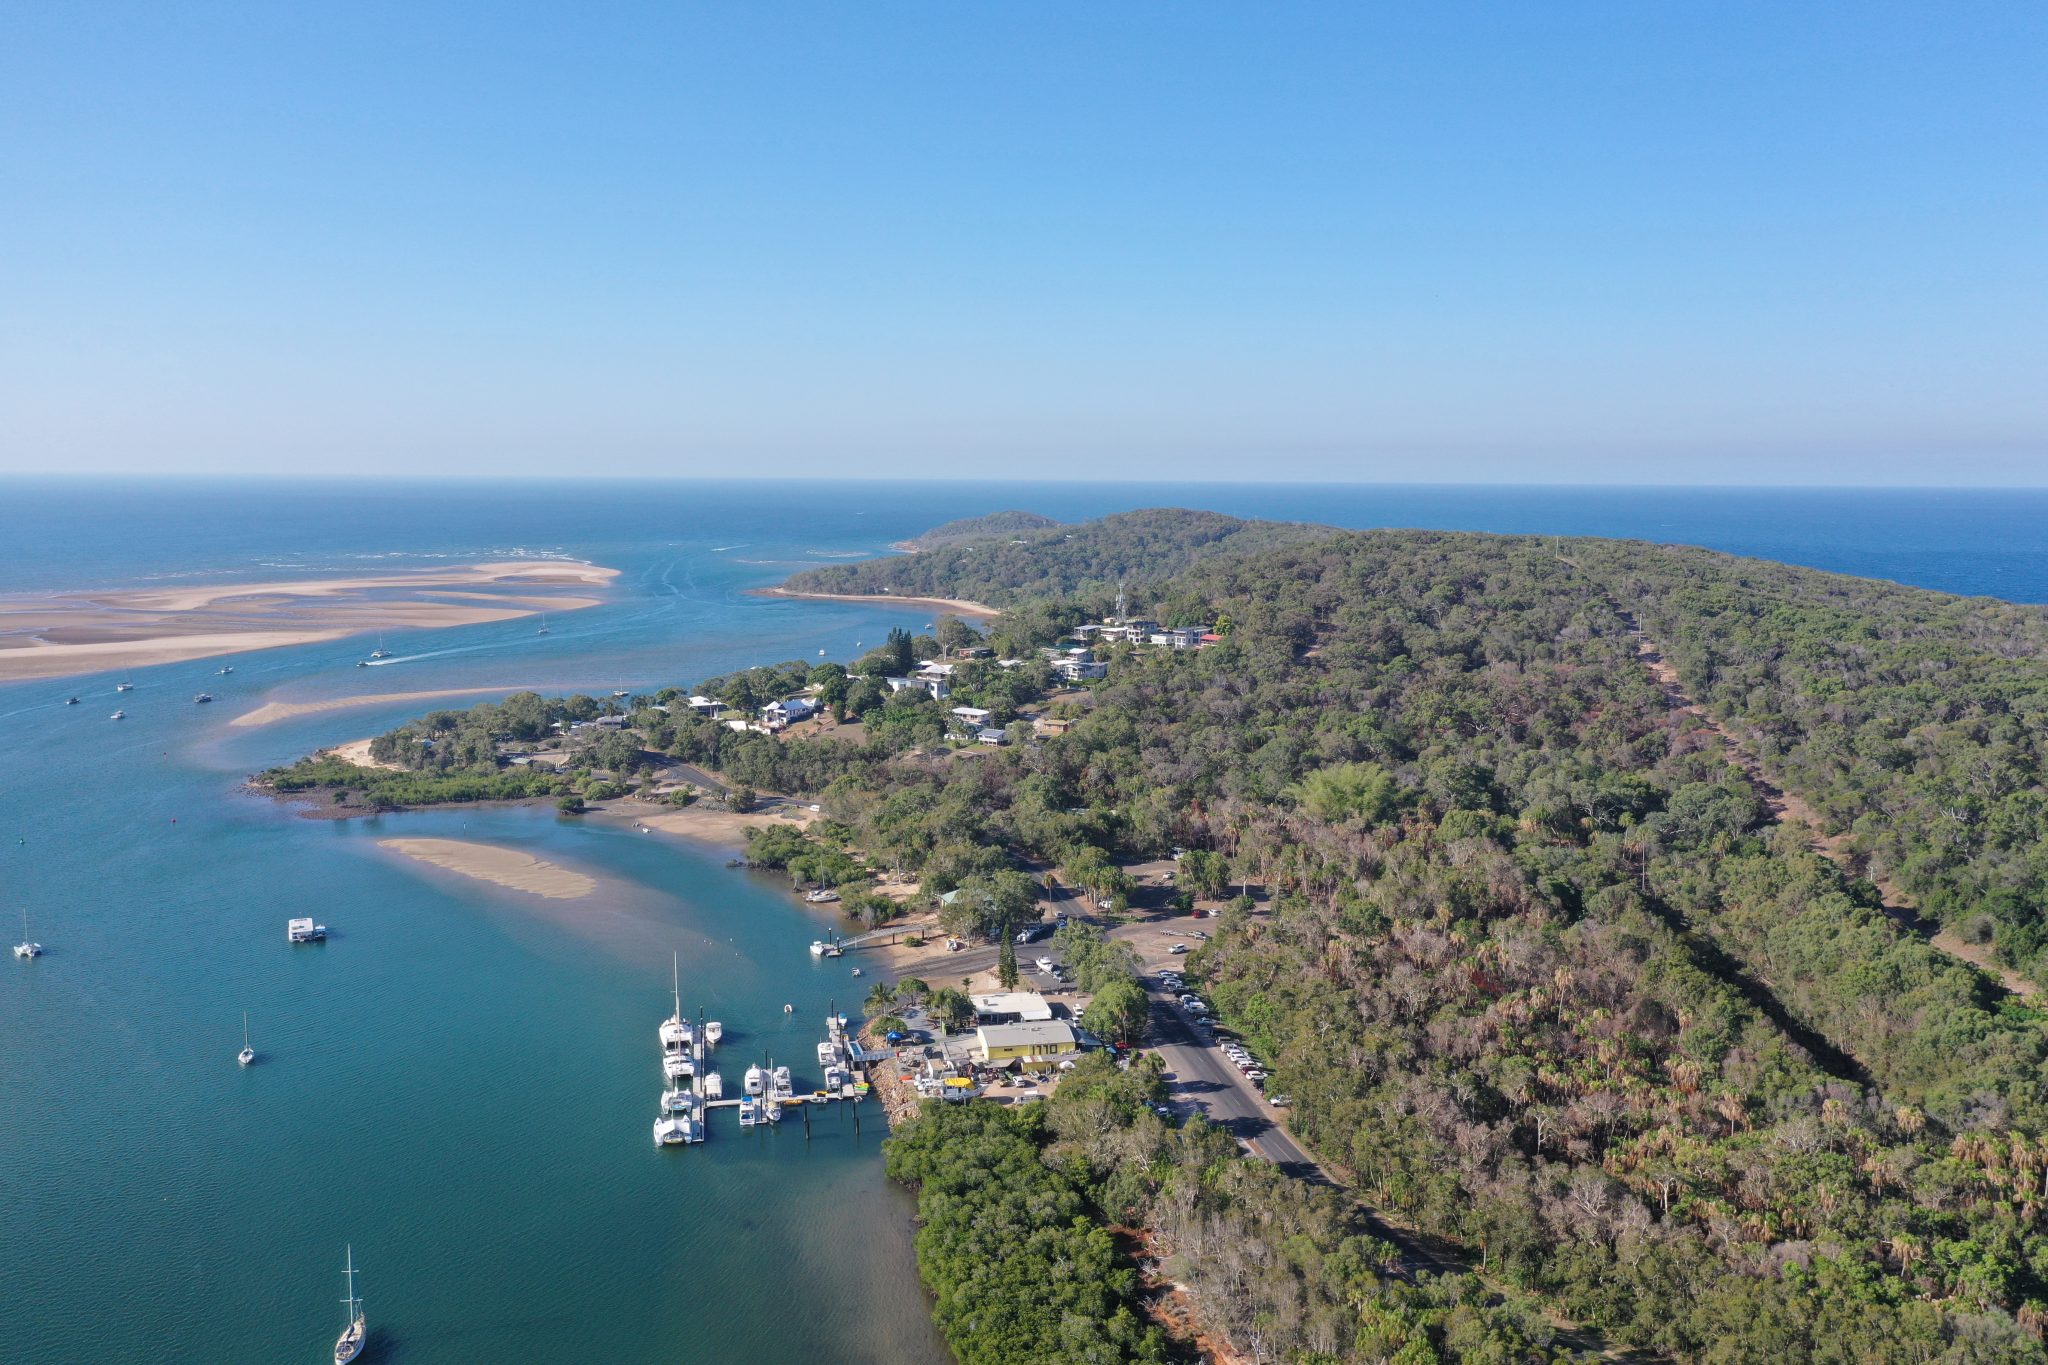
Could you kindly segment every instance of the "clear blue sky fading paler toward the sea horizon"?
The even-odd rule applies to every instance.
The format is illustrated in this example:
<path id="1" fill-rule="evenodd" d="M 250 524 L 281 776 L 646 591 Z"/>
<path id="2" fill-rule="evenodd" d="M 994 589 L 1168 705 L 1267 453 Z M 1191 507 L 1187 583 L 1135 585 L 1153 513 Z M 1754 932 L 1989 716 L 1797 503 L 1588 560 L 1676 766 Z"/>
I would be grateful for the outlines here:
<path id="1" fill-rule="evenodd" d="M 12 4 L 0 471 L 2048 483 L 2048 6 Z"/>

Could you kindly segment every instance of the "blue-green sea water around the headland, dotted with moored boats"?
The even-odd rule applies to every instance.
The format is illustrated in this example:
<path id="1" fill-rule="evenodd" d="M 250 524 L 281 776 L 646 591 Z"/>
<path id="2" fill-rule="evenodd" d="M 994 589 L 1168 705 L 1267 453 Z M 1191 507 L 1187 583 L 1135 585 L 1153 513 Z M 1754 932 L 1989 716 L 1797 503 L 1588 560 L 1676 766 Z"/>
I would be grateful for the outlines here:
<path id="1" fill-rule="evenodd" d="M 930 524 L 1028 508 L 1200 505 L 1343 526 L 1614 534 L 2048 600 L 2048 495 L 1159 485 L 0 483 L 0 591 L 344 575 L 563 555 L 606 606 L 532 622 L 0 686 L 0 1361 L 324 1359 L 342 1244 L 373 1359 L 944 1361 L 881 1175 L 879 1113 L 657 1152 L 668 958 L 729 1029 L 725 1070 L 811 1076 L 850 962 L 723 853 L 547 810 L 315 823 L 242 776 L 416 704 L 227 722 L 270 700 L 430 688 L 688 684 L 918 616 L 748 596 Z M 209 690 L 219 700 L 195 708 Z M 68 708 L 70 694 L 84 698 Z M 600 892 L 535 902 L 377 839 L 530 849 Z M 334 937 L 287 948 L 283 921 Z M 12 941 L 12 931 L 8 931 Z M 784 1015 L 782 1005 L 797 1007 Z M 233 1064 L 242 1011 L 262 1062 Z"/>

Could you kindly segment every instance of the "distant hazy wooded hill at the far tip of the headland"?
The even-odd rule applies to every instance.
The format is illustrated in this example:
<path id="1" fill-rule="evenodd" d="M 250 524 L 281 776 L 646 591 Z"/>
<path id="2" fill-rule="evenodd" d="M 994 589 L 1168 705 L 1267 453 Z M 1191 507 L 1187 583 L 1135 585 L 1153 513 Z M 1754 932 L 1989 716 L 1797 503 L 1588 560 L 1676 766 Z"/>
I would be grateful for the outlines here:
<path id="1" fill-rule="evenodd" d="M 942 530 L 948 528 L 938 528 Z M 944 596 L 991 606 L 1042 598 L 1083 598 L 1096 604 L 1112 600 L 1118 581 L 1161 583 L 1219 555 L 1247 555 L 1331 534 L 1335 532 L 1327 526 L 1245 522 L 1219 512 L 1153 508 L 1079 526 L 1001 530 L 975 540 L 950 540 L 918 555 L 807 569 L 784 587 Z"/>

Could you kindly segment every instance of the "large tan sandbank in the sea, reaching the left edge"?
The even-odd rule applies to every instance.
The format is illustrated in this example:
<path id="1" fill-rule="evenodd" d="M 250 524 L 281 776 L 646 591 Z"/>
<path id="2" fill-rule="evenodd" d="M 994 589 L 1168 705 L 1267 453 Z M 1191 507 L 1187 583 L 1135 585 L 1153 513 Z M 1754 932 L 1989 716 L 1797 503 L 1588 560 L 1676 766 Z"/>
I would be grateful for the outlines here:
<path id="1" fill-rule="evenodd" d="M 616 569 L 494 561 L 414 573 L 0 598 L 0 681 L 143 669 L 369 630 L 598 606 Z M 563 591 L 578 589 L 578 591 Z"/>

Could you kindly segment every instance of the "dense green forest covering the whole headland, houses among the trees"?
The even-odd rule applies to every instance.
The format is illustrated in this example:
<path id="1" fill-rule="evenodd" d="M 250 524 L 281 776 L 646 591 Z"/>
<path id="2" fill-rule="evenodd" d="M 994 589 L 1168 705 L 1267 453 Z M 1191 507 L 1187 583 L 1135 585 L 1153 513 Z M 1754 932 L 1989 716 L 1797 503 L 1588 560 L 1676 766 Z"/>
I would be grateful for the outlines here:
<path id="1" fill-rule="evenodd" d="M 997 972 L 1055 882 L 1096 919 L 1223 900 L 1182 970 L 1335 1187 L 1161 1117 L 1153 1062 L 934 1101 L 887 1152 L 963 1361 L 1169 1359 L 1157 1285 L 1241 1359 L 2048 1361 L 2048 1015 L 1886 913 L 2048 976 L 2048 612 L 1176 512 L 793 585 L 1004 614 L 707 679 L 709 714 L 680 688 L 436 712 L 371 741 L 408 767 L 373 780 L 545 747 L 575 798 L 784 792 L 817 819 L 750 862 L 860 923 L 936 913 Z M 1165 632 L 1075 645 L 1118 591 Z M 1057 677 L 1071 649 L 1106 675 Z M 922 659 L 944 698 L 887 686 Z"/>

